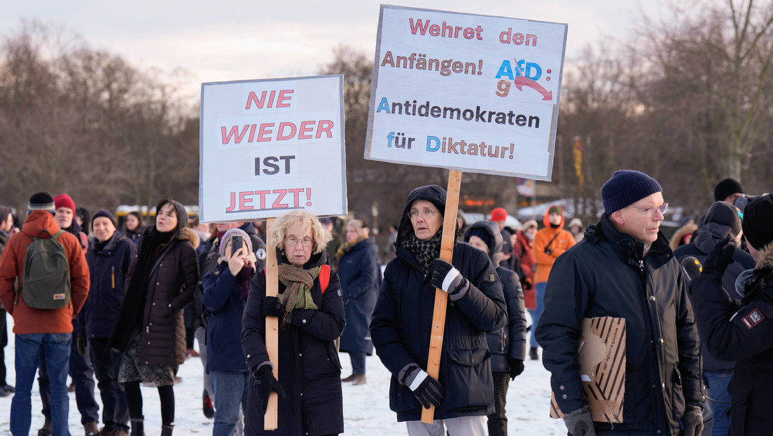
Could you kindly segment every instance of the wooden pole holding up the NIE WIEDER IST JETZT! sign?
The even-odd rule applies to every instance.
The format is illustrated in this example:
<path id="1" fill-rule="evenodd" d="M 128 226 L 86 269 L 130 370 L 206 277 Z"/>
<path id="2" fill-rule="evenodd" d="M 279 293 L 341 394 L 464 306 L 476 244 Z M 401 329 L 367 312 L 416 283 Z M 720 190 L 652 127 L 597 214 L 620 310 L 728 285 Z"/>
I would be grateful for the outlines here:
<path id="1" fill-rule="evenodd" d="M 266 221 L 266 235 L 271 234 L 274 218 Z M 266 247 L 266 297 L 276 297 L 279 291 L 279 268 L 277 250 L 267 240 Z M 268 359 L 274 364 L 274 377 L 279 379 L 279 318 L 266 317 L 266 351 Z M 268 407 L 263 417 L 264 430 L 276 430 L 279 421 L 278 395 L 272 391 L 268 397 Z"/>

